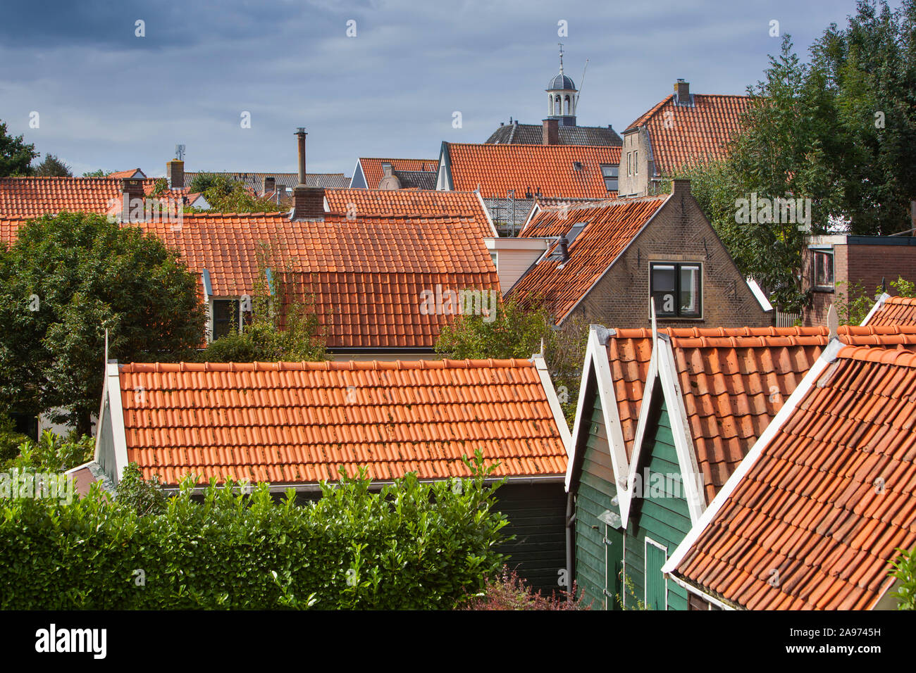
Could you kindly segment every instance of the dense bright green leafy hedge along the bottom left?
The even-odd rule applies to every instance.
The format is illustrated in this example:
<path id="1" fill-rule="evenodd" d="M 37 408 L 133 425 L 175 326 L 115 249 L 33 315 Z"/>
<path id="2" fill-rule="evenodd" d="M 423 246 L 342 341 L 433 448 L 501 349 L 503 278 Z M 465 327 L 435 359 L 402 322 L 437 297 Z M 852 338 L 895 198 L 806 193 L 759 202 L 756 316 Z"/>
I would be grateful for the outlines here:
<path id="1" fill-rule="evenodd" d="M 191 483 L 161 514 L 139 516 L 100 490 L 57 502 L 11 499 L 0 512 L 2 609 L 448 609 L 506 557 L 478 460 L 460 483 L 414 475 L 370 492 L 322 484 L 297 504 Z"/>

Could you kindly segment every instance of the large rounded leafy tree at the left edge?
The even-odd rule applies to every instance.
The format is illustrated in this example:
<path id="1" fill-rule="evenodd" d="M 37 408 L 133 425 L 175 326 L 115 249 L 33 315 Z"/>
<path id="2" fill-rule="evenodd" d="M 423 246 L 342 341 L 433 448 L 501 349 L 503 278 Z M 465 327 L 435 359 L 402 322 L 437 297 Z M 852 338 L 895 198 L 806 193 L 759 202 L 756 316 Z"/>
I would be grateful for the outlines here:
<path id="1" fill-rule="evenodd" d="M 105 329 L 121 362 L 188 359 L 205 321 L 197 284 L 154 234 L 88 213 L 29 221 L 0 253 L 0 408 L 56 409 L 88 434 Z"/>

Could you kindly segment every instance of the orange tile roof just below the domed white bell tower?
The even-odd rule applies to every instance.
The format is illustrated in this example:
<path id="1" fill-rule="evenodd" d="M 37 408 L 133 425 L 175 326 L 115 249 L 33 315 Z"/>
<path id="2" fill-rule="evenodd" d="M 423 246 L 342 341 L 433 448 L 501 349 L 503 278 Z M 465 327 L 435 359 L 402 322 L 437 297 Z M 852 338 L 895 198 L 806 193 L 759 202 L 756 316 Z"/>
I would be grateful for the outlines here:
<path id="1" fill-rule="evenodd" d="M 485 198 L 545 197 L 605 199 L 602 164 L 618 165 L 620 147 L 585 145 L 463 145 L 445 143 L 454 190 L 480 187 Z M 579 162 L 582 168 L 576 169 Z"/>

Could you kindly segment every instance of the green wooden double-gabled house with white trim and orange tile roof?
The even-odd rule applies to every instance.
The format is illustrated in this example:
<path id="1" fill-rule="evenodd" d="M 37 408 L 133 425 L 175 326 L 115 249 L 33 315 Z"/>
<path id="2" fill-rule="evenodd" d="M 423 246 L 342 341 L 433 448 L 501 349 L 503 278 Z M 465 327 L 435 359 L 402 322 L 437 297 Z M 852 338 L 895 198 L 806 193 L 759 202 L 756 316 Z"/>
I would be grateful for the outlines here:
<path id="1" fill-rule="evenodd" d="M 592 327 L 566 475 L 586 602 L 691 607 L 662 566 L 826 342 L 819 328 Z"/>

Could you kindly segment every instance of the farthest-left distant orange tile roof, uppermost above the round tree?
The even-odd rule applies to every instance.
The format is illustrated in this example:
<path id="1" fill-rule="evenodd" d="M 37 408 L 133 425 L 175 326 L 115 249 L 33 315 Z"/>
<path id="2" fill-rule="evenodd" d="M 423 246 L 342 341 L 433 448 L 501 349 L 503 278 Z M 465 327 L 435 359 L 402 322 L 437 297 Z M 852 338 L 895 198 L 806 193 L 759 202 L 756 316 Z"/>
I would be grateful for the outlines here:
<path id="1" fill-rule="evenodd" d="M 147 194 L 156 180 L 143 180 Z M 0 178 L 0 217 L 40 217 L 61 211 L 104 214 L 121 199 L 114 178 Z"/>

